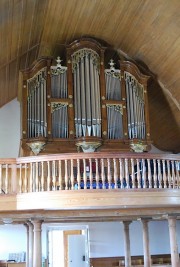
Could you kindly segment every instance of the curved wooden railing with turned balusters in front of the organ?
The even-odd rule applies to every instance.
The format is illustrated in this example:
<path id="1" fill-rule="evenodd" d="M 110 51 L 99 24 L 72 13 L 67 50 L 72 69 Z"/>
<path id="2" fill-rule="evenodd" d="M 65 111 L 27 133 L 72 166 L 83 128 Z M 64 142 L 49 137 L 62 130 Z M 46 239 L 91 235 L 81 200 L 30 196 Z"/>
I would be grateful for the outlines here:
<path id="1" fill-rule="evenodd" d="M 0 193 L 180 188 L 180 156 L 74 153 L 0 159 Z"/>

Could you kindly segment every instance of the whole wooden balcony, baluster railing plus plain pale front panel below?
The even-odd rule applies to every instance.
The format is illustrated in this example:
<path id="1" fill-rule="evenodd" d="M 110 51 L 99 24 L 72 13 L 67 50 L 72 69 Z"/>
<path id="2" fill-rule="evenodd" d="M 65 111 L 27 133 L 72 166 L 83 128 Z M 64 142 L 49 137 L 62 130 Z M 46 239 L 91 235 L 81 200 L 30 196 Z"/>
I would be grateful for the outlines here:
<path id="1" fill-rule="evenodd" d="M 179 155 L 97 152 L 0 159 L 0 212 L 146 209 L 148 215 L 149 209 L 152 215 L 159 208 L 176 213 L 179 206 Z"/>

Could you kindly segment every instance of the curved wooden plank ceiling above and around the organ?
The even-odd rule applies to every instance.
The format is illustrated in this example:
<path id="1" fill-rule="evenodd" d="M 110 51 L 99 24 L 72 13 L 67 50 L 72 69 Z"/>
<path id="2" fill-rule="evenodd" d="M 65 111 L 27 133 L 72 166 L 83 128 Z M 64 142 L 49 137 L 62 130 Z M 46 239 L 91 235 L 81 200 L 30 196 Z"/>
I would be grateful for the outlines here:
<path id="1" fill-rule="evenodd" d="M 151 74 L 152 140 L 180 152 L 179 14 L 179 0 L 0 0 L 0 107 L 17 97 L 20 69 L 91 36 Z"/>

